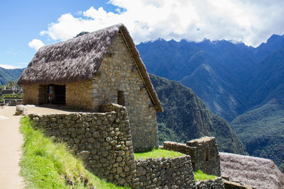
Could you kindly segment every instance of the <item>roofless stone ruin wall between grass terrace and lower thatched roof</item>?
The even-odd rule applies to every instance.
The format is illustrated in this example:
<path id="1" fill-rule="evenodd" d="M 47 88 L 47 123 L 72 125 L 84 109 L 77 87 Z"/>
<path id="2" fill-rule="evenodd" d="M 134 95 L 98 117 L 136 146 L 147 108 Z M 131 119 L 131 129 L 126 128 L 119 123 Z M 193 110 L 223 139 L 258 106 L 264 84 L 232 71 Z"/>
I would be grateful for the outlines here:
<path id="1" fill-rule="evenodd" d="M 209 175 L 221 176 L 220 156 L 215 137 L 202 137 L 187 144 L 164 142 L 163 148 L 190 155 L 194 171 L 201 170 Z"/>

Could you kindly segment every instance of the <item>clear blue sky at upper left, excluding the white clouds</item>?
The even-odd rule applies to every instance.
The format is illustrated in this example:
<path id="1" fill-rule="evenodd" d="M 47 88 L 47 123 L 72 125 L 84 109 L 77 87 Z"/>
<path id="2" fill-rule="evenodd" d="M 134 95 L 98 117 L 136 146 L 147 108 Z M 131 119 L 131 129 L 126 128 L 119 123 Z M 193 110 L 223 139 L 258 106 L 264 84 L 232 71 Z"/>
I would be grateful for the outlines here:
<path id="1" fill-rule="evenodd" d="M 48 24 L 56 22 L 63 13 L 75 15 L 78 11 L 85 11 L 91 6 L 102 6 L 108 11 L 115 10 L 115 6 L 107 4 L 107 1 L 1 0 L 0 64 L 26 67 L 35 55 L 35 50 L 29 47 L 28 43 L 33 38 L 43 38 L 40 31 L 46 30 Z"/>

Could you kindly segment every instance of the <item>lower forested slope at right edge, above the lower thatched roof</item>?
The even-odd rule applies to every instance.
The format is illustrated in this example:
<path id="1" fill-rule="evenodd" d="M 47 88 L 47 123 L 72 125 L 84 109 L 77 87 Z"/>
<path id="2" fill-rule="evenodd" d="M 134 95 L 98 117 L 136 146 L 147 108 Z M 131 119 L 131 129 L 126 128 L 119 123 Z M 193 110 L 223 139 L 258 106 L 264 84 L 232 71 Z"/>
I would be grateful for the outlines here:
<path id="1" fill-rule="evenodd" d="M 284 98 L 272 99 L 231 122 L 251 156 L 272 159 L 284 167 Z"/>

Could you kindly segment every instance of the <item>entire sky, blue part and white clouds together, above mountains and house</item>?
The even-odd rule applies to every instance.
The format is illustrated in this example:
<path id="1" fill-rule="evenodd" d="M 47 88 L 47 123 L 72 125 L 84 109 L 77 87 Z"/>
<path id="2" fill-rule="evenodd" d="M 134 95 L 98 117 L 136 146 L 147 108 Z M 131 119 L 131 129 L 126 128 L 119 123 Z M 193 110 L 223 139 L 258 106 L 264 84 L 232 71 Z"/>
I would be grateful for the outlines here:
<path id="1" fill-rule="evenodd" d="M 26 67 L 43 45 L 124 23 L 134 42 L 242 41 L 284 34 L 283 0 L 1 0 L 0 67 Z"/>

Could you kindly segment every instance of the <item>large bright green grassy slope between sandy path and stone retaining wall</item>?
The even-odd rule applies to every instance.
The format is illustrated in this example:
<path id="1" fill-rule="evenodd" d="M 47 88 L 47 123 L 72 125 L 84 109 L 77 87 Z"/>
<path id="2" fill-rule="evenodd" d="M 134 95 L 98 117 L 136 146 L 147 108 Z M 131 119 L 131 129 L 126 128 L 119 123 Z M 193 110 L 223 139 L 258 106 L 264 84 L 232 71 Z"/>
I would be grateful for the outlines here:
<path id="1" fill-rule="evenodd" d="M 26 188 L 119 188 L 87 171 L 65 144 L 53 143 L 34 130 L 27 116 L 21 118 L 20 130 L 24 137 L 21 176 Z"/>

